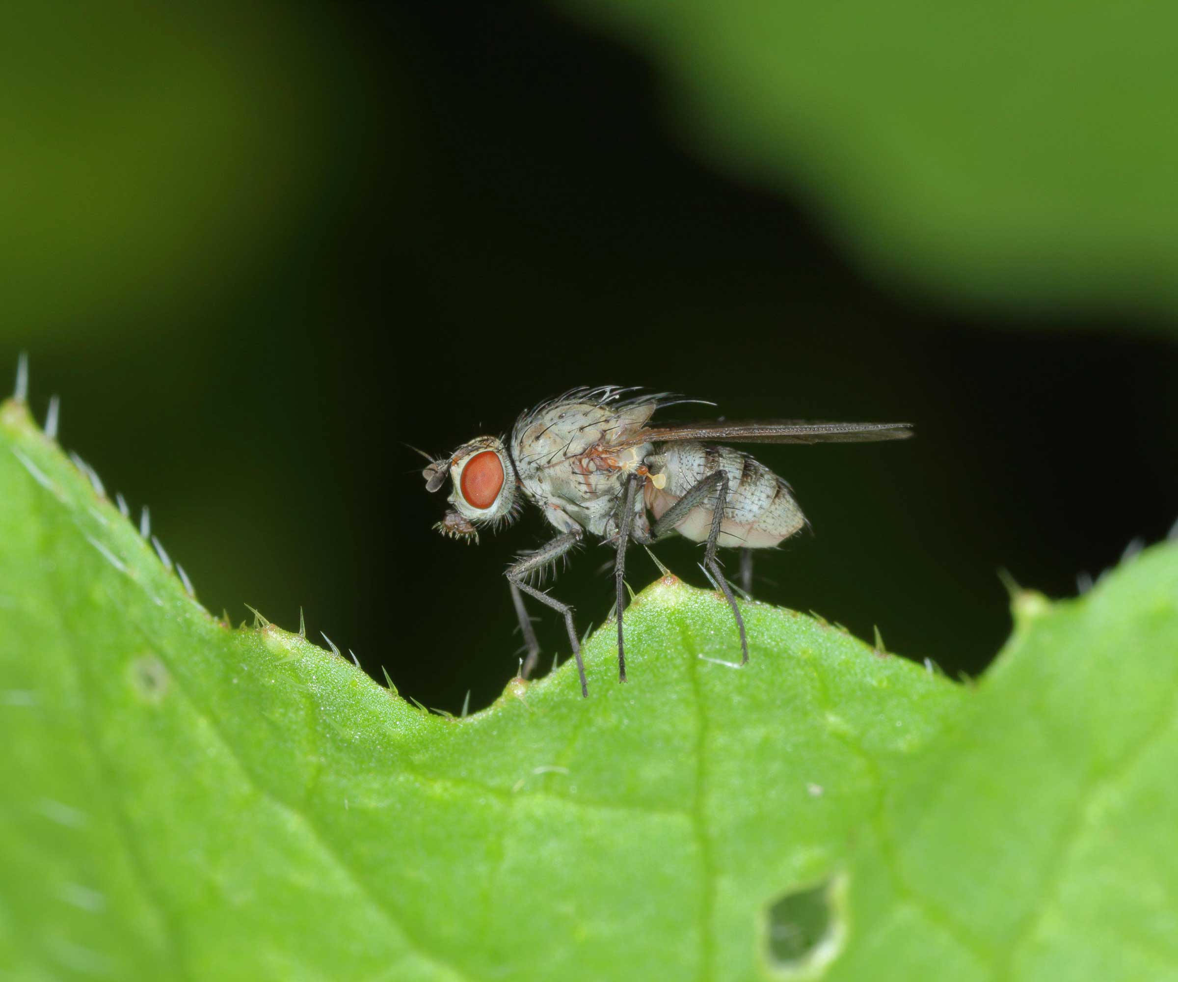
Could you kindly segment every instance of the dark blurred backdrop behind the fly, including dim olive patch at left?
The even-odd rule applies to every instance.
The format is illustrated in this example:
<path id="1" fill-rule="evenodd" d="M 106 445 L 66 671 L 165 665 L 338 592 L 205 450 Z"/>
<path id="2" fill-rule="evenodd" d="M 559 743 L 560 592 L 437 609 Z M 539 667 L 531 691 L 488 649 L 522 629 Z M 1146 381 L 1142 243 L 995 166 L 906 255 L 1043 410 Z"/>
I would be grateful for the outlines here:
<path id="1" fill-rule="evenodd" d="M 1035 250 L 1057 285 L 1058 264 L 1013 239 L 1025 296 L 892 276 L 838 196 L 699 152 L 657 59 L 568 12 L 5 17 L 2 362 L 29 352 L 34 410 L 61 395 L 62 443 L 151 506 L 205 606 L 291 630 L 303 606 L 426 705 L 485 705 L 514 673 L 502 569 L 548 533 L 529 513 L 442 539 L 403 442 L 450 450 L 571 385 L 915 423 L 904 444 L 760 448 L 814 534 L 759 559 L 755 592 L 951 673 L 1008 633 L 999 569 L 1074 594 L 1178 516 L 1164 305 L 1035 295 Z M 704 584 L 696 547 L 656 552 Z M 591 546 L 555 587 L 582 627 L 608 559 Z M 656 574 L 641 551 L 629 568 Z M 558 619 L 537 627 L 563 654 Z"/>

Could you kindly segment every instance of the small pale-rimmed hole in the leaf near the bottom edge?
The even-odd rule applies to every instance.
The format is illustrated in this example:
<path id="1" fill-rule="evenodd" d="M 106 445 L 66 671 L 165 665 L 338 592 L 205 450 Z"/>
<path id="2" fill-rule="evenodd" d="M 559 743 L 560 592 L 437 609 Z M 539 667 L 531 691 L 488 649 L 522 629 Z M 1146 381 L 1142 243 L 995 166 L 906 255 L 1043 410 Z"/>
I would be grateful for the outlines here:
<path id="1" fill-rule="evenodd" d="M 829 964 L 847 935 L 846 877 L 782 894 L 765 909 L 765 960 L 779 978 L 809 978 Z"/>

